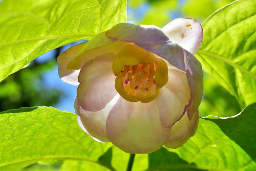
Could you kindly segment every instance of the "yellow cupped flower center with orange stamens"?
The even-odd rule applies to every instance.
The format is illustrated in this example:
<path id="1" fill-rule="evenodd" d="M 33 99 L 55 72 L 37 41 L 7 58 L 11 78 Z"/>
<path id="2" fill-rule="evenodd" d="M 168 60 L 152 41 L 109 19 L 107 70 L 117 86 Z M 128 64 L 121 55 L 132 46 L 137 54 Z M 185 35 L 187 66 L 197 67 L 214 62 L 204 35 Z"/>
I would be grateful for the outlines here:
<path id="1" fill-rule="evenodd" d="M 115 88 L 127 101 L 154 100 L 168 81 L 166 62 L 136 45 L 127 45 L 113 61 Z"/>

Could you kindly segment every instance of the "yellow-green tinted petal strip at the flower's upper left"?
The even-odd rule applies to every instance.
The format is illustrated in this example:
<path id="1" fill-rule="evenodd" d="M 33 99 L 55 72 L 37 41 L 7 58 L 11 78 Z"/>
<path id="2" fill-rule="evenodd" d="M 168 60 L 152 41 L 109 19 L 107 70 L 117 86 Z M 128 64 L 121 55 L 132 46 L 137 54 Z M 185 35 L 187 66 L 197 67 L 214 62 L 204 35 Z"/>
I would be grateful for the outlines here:
<path id="1" fill-rule="evenodd" d="M 88 43 L 81 47 L 76 56 L 68 63 L 69 70 L 78 70 L 84 63 L 105 53 L 117 54 L 124 46 L 130 42 L 116 41 L 105 36 L 105 32 L 97 34 Z"/>

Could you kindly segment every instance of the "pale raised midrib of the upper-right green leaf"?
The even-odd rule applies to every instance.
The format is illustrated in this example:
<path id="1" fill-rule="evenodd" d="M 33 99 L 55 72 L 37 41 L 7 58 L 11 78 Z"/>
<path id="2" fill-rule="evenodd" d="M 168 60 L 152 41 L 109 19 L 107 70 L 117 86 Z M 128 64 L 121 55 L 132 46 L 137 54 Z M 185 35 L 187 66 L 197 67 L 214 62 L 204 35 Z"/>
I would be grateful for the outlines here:
<path id="1" fill-rule="evenodd" d="M 253 75 L 252 73 L 250 73 L 246 69 L 242 68 L 241 66 L 237 65 L 237 63 L 234 63 L 232 60 L 230 60 L 228 58 L 225 58 L 225 57 L 220 56 L 220 55 L 216 55 L 214 53 L 207 52 L 205 50 L 198 50 L 197 53 L 202 54 L 202 55 L 207 55 L 207 56 L 210 56 L 210 57 L 213 57 L 213 58 L 216 58 L 216 59 L 219 59 L 219 60 L 227 63 L 228 65 L 232 66 L 233 68 L 239 69 L 244 74 L 246 74 L 249 77 L 251 77 L 252 79 L 256 80 L 256 76 L 255 75 Z"/>

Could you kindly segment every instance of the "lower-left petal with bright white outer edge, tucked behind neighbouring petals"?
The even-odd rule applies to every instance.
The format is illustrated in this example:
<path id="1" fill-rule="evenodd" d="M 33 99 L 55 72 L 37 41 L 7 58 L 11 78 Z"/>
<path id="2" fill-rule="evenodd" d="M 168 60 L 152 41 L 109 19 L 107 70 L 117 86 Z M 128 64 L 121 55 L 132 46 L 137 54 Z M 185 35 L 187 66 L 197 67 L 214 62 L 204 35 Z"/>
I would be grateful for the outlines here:
<path id="1" fill-rule="evenodd" d="M 77 121 L 81 129 L 98 142 L 109 142 L 106 135 L 106 117 L 120 96 L 116 95 L 105 108 L 98 112 L 88 112 L 81 108 L 78 99 L 75 99 L 74 107 Z"/>

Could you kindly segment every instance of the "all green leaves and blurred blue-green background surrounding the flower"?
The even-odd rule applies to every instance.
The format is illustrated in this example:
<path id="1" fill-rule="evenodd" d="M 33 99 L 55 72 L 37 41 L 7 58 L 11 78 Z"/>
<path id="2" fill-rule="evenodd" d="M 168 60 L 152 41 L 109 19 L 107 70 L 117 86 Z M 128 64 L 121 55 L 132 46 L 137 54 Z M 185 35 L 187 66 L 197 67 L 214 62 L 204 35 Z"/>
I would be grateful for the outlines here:
<path id="1" fill-rule="evenodd" d="M 200 116 L 213 115 L 200 119 L 196 135 L 182 147 L 136 155 L 133 170 L 256 169 L 256 2 L 227 5 L 231 2 L 127 2 L 129 23 L 162 27 L 180 16 L 203 23 L 204 38 L 196 54 L 206 72 Z M 130 155 L 91 139 L 75 114 L 31 107 L 68 109 L 67 100 L 73 108 L 76 88 L 63 87 L 53 76 L 56 57 L 74 45 L 70 42 L 89 40 L 125 22 L 125 6 L 126 1 L 117 0 L 0 3 L 0 170 L 126 169 Z M 9 110 L 20 107 L 31 108 Z"/>

